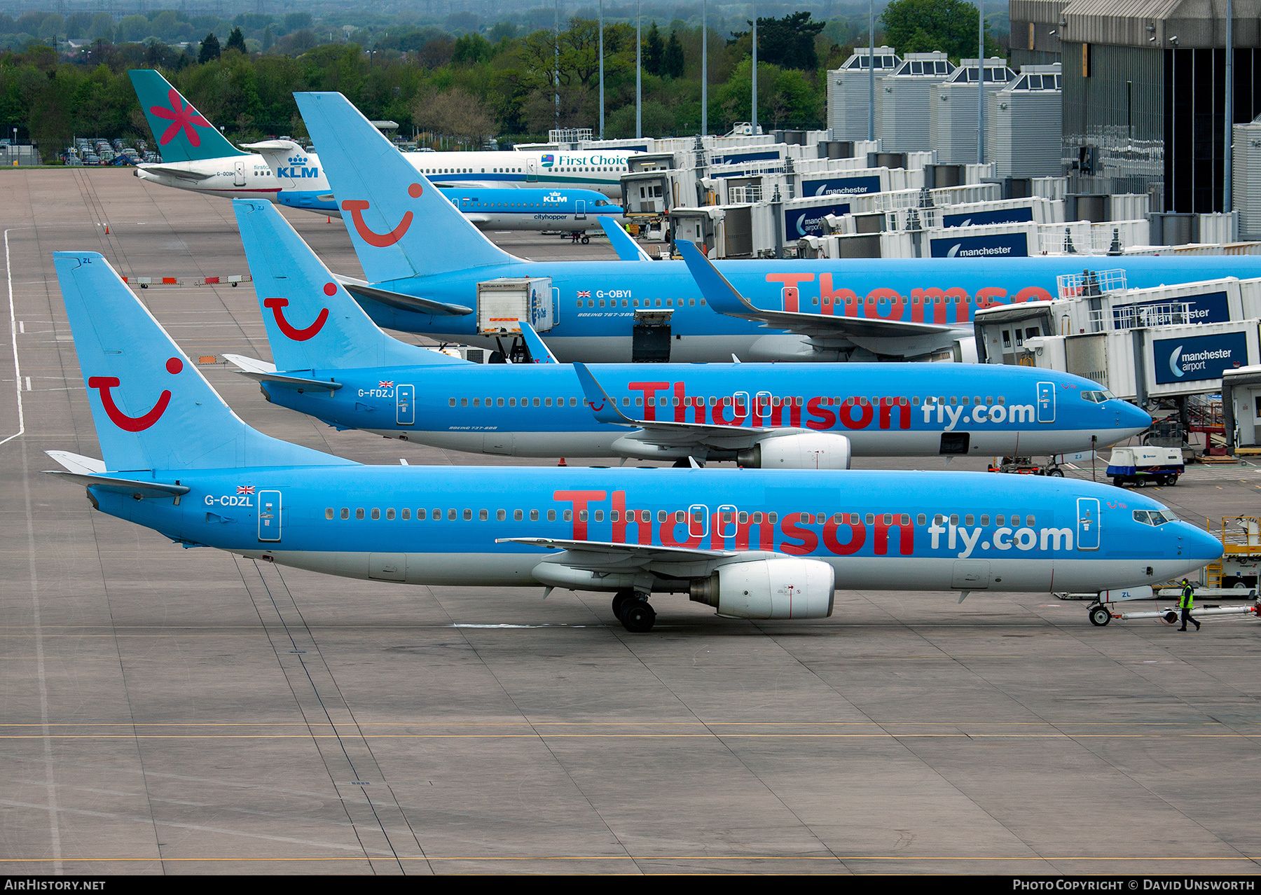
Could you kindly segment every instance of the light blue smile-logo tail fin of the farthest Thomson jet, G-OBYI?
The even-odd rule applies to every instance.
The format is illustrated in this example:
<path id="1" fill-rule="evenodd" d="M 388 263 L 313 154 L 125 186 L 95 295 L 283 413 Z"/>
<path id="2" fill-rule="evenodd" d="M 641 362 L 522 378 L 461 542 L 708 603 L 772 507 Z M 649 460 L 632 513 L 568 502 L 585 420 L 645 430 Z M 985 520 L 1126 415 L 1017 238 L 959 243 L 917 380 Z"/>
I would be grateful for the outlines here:
<path id="1" fill-rule="evenodd" d="M 477 227 L 340 93 L 295 93 L 372 282 L 518 261 Z"/>

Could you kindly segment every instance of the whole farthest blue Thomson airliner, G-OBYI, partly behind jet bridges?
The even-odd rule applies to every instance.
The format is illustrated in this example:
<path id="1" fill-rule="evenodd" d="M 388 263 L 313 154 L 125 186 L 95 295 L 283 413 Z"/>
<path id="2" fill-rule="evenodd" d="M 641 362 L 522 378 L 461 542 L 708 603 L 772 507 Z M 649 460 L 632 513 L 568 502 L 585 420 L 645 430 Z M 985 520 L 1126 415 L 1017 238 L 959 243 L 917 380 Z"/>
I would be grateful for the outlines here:
<path id="1" fill-rule="evenodd" d="M 494 348 L 478 284 L 547 279 L 554 319 L 540 335 L 561 361 L 861 361 L 928 357 L 971 344 L 977 308 L 1042 301 L 1081 256 L 719 261 L 748 306 L 707 306 L 687 266 L 647 261 L 607 228 L 620 263 L 523 261 L 451 213 L 340 93 L 296 93 L 376 296 L 352 289 L 380 325 Z M 1130 287 L 1261 276 L 1261 257 L 1098 258 Z"/>

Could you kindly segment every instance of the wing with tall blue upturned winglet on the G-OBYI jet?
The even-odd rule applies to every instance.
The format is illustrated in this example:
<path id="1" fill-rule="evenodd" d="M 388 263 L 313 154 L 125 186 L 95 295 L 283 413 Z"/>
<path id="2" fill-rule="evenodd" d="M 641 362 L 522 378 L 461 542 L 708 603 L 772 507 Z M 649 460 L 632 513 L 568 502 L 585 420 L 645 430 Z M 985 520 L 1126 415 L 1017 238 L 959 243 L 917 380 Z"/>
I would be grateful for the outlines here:
<path id="1" fill-rule="evenodd" d="M 700 253 L 692 243 L 680 240 L 675 243 L 687 263 L 692 279 L 701 290 L 709 306 L 719 314 L 738 316 L 745 320 L 760 320 L 764 326 L 787 329 L 816 339 L 846 338 L 898 338 L 950 333 L 960 329 L 936 323 L 907 323 L 904 320 L 873 320 L 870 318 L 831 316 L 826 314 L 803 314 L 801 311 L 774 311 L 755 306 L 736 291 L 718 267 Z"/>

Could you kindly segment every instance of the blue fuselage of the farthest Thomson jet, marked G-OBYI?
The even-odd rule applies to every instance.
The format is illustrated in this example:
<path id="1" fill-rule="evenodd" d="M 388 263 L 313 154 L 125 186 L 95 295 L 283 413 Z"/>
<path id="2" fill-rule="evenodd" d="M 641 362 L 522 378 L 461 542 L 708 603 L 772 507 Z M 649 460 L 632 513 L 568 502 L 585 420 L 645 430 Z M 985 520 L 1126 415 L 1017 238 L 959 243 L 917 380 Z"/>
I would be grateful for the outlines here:
<path id="1" fill-rule="evenodd" d="M 929 339 L 929 350 L 939 350 L 971 333 L 977 308 L 1049 300 L 1057 295 L 1057 276 L 1101 263 L 1124 267 L 1131 289 L 1261 277 L 1261 257 L 1252 256 L 719 261 L 716 266 L 759 308 L 950 326 L 953 335 Z M 523 261 L 375 285 L 475 308 L 478 282 L 525 276 L 551 277 L 557 319 L 540 335 L 561 361 L 632 361 L 636 320 L 646 311 L 670 314 L 671 361 L 729 361 L 733 353 L 743 361 L 837 361 L 852 350 L 852 345 L 820 350 L 806 337 L 715 314 L 682 261 Z M 477 314 L 430 315 L 358 300 L 383 328 L 496 347 L 493 338 L 477 332 Z M 879 338 L 851 342 L 885 355 Z"/>

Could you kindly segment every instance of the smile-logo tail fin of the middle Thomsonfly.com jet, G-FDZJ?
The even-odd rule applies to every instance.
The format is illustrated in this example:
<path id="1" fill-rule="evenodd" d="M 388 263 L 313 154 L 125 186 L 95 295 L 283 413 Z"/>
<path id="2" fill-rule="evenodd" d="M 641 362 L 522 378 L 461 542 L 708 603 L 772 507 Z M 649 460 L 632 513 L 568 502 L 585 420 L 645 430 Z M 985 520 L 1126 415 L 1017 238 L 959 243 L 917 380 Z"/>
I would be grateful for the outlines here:
<path id="1" fill-rule="evenodd" d="M 277 369 L 468 363 L 386 335 L 270 202 L 232 211 Z"/>

